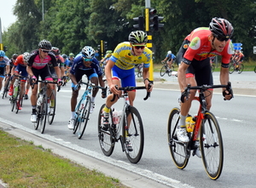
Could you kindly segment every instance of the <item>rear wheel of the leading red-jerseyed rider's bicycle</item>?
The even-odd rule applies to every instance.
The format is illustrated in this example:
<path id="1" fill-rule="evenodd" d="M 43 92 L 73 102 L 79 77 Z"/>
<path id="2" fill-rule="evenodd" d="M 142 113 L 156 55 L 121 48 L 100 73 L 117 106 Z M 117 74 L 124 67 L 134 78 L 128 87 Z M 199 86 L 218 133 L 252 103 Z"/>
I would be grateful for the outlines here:
<path id="1" fill-rule="evenodd" d="M 177 122 L 179 120 L 180 110 L 178 108 L 173 108 L 170 112 L 168 119 L 168 128 L 167 128 L 167 136 L 168 136 L 168 145 L 172 155 L 172 160 L 174 164 L 179 169 L 183 169 L 187 166 L 189 162 L 190 152 L 187 153 L 185 150 L 185 146 L 183 143 L 177 140 Z"/>

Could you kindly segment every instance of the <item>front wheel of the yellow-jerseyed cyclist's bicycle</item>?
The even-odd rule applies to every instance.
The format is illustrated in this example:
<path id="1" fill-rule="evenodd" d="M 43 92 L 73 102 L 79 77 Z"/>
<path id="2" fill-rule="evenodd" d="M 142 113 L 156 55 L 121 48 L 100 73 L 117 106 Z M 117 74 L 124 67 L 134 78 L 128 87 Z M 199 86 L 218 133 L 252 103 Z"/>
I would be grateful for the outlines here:
<path id="1" fill-rule="evenodd" d="M 137 163 L 143 156 L 143 120 L 141 115 L 134 106 L 129 106 L 129 114 L 125 113 L 125 117 L 126 118 L 123 122 L 123 143 L 125 145 L 125 154 L 131 163 Z M 130 149 L 128 149 L 128 143 L 130 145 Z"/>

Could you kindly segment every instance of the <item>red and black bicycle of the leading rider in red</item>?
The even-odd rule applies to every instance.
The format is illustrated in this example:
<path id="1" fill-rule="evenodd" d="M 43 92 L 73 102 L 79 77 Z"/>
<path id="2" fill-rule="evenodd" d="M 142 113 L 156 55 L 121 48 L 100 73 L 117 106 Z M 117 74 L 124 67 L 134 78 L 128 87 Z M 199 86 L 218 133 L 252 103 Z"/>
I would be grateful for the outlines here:
<path id="1" fill-rule="evenodd" d="M 189 157 L 195 156 L 197 145 L 195 142 L 199 140 L 201 150 L 201 158 L 207 175 L 210 179 L 218 179 L 223 168 L 224 162 L 224 146 L 221 131 L 216 117 L 212 112 L 207 111 L 207 103 L 204 92 L 209 88 L 226 88 L 232 94 L 231 83 L 227 85 L 203 85 L 188 87 L 182 94 L 181 101 L 184 97 L 188 99 L 190 89 L 199 89 L 199 96 L 195 96 L 194 100 L 200 102 L 199 110 L 195 119 L 195 128 L 188 133 L 189 142 L 183 143 L 177 140 L 177 124 L 179 121 L 179 108 L 172 109 L 168 119 L 168 145 L 172 155 L 172 160 L 179 169 L 183 169 L 189 162 Z M 233 96 L 233 94 L 232 94 Z M 198 142 L 197 142 L 198 143 Z"/>

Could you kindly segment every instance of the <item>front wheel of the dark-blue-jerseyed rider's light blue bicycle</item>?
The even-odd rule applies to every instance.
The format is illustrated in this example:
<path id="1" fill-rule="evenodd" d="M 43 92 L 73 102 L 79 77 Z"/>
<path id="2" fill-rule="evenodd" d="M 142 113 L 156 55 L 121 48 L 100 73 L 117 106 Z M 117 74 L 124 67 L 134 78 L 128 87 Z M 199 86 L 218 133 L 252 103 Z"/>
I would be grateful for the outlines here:
<path id="1" fill-rule="evenodd" d="M 79 139 L 82 138 L 82 136 L 84 134 L 84 130 L 85 130 L 86 125 L 87 125 L 87 122 L 89 120 L 90 105 L 91 105 L 91 99 L 90 99 L 90 96 L 87 96 L 85 104 L 84 104 L 84 108 L 80 113 L 79 121 L 78 121 L 78 124 L 77 124 Z"/>

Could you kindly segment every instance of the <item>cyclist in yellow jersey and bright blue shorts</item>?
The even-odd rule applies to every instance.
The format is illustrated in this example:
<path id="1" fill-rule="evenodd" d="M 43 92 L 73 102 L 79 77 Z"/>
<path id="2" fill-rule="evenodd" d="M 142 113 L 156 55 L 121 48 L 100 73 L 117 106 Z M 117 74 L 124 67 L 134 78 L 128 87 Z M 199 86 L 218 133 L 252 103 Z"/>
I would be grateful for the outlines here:
<path id="1" fill-rule="evenodd" d="M 111 101 L 113 94 L 121 94 L 121 91 L 116 86 L 136 86 L 135 65 L 143 63 L 144 83 L 148 92 L 152 91 L 153 87 L 148 88 L 149 64 L 152 60 L 152 51 L 146 47 L 147 42 L 148 36 L 144 31 L 131 31 L 129 42 L 119 43 L 108 60 L 105 74 L 112 94 L 108 95 L 106 105 L 103 108 L 103 129 L 108 129 L 110 108 L 118 100 L 118 97 L 116 97 L 114 101 Z M 130 91 L 128 95 L 130 104 L 133 105 L 136 95 L 135 91 Z M 132 151 L 131 143 L 129 140 L 126 141 L 128 142 L 128 150 Z"/>

